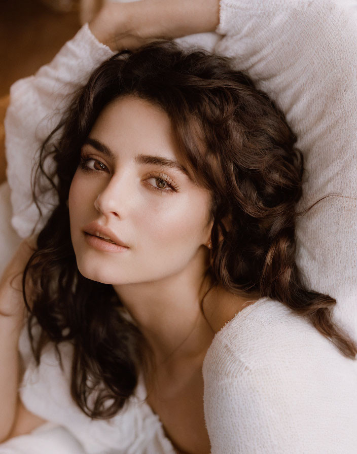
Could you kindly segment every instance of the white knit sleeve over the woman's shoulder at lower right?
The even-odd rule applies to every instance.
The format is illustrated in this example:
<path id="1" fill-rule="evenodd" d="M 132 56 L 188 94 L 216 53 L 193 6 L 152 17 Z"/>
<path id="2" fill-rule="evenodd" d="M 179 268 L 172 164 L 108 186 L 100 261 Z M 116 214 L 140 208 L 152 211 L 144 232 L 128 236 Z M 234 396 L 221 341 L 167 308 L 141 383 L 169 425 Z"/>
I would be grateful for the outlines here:
<path id="1" fill-rule="evenodd" d="M 211 454 L 354 452 L 356 366 L 281 302 L 245 308 L 203 362 Z"/>

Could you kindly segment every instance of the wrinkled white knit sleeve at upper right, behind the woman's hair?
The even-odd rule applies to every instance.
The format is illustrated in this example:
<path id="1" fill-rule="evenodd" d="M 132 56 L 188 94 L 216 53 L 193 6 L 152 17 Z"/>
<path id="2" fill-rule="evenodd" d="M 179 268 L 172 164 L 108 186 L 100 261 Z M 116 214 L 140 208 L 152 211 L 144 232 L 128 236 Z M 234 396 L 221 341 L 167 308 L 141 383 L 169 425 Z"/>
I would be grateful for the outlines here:
<path id="1" fill-rule="evenodd" d="M 309 289 L 336 298 L 357 340 L 357 4 L 221 0 L 215 52 L 233 58 L 283 110 L 304 155 L 297 264 Z"/>

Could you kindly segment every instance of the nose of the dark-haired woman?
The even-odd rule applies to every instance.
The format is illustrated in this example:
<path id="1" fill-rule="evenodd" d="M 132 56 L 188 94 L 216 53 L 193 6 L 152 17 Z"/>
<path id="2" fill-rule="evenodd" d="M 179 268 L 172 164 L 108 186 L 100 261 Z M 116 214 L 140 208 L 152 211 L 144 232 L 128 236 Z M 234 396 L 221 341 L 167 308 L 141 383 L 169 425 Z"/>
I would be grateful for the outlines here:
<path id="1" fill-rule="evenodd" d="M 130 185 L 128 185 L 127 181 L 124 181 L 124 178 L 116 180 L 112 177 L 104 190 L 98 194 L 94 207 L 105 216 L 112 214 L 123 217 L 126 203 L 129 200 L 128 190 L 125 190 L 128 187 Z"/>

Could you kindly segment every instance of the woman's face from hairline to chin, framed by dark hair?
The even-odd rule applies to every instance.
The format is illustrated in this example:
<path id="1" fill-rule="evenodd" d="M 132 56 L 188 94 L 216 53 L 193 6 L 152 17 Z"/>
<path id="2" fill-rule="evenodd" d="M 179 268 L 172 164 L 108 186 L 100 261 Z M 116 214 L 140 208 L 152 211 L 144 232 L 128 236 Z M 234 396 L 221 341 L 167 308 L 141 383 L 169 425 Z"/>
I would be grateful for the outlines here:
<path id="1" fill-rule="evenodd" d="M 207 257 L 210 194 L 180 169 L 166 112 L 131 95 L 113 101 L 100 113 L 81 156 L 88 161 L 74 175 L 68 204 L 83 276 L 113 285 L 152 282 L 180 273 L 198 254 Z M 84 232 L 95 221 L 127 247 L 96 248 L 94 241 L 102 240 Z"/>

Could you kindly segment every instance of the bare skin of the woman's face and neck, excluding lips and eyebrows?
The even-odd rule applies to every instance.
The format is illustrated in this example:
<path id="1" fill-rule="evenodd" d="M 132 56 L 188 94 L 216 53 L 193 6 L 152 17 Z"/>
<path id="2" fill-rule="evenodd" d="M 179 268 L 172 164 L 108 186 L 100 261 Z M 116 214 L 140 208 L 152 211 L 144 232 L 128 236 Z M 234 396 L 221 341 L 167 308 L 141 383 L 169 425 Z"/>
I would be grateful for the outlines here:
<path id="1" fill-rule="evenodd" d="M 212 226 L 209 192 L 179 170 L 135 163 L 137 154 L 179 160 L 166 112 L 148 101 L 126 96 L 112 102 L 89 137 L 109 147 L 115 160 L 90 144 L 82 148 L 82 157 L 91 159 L 86 166 L 99 170 L 79 166 L 69 191 L 79 271 L 114 286 L 159 362 L 173 351 L 176 358 L 200 354 L 212 332 L 200 309 Z M 177 192 L 159 175 L 167 175 Z M 129 249 L 103 252 L 88 245 L 83 229 L 95 220 Z"/>

